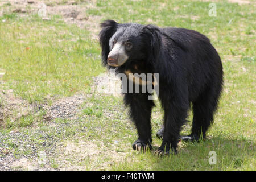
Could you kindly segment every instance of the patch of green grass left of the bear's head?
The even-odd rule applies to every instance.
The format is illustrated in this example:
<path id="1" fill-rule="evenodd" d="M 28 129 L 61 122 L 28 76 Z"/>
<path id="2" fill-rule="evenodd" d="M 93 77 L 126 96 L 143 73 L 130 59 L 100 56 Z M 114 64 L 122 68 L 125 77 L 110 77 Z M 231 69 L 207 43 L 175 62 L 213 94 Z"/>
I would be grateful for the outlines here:
<path id="1" fill-rule="evenodd" d="M 0 23 L 0 68 L 6 84 L 30 102 L 43 102 L 49 96 L 69 96 L 89 90 L 90 78 L 104 69 L 100 49 L 88 32 L 63 22 L 43 22 L 5 15 Z"/>

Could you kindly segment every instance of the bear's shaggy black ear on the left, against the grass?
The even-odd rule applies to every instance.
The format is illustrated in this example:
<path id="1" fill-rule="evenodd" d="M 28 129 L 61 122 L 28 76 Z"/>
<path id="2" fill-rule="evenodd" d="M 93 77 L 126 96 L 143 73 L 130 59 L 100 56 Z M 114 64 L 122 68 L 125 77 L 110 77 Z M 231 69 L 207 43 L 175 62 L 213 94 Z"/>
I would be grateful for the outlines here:
<path id="1" fill-rule="evenodd" d="M 98 35 L 100 38 L 100 46 L 101 46 L 101 60 L 102 64 L 106 66 L 108 64 L 108 55 L 109 55 L 109 39 L 114 35 L 117 31 L 118 23 L 114 20 L 105 20 L 100 24 L 101 31 Z"/>

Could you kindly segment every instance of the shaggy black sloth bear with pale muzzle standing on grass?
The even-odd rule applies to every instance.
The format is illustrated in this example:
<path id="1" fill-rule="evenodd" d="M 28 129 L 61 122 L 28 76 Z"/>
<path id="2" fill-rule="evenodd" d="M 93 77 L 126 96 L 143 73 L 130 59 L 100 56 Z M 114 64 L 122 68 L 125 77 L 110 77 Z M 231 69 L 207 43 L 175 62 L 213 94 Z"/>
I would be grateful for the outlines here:
<path id="1" fill-rule="evenodd" d="M 101 23 L 99 40 L 102 64 L 108 69 L 115 68 L 116 73 L 127 76 L 128 73 L 158 73 L 158 98 L 164 110 L 164 122 L 156 134 L 162 138 L 156 155 L 176 154 L 180 139 L 205 139 L 223 82 L 220 56 L 206 36 L 185 28 L 105 20 Z M 155 86 L 154 81 L 149 84 Z M 150 119 L 155 104 L 148 95 L 151 93 L 124 93 L 124 103 L 130 107 L 130 118 L 138 131 L 138 139 L 133 143 L 137 151 L 152 149 Z M 180 130 L 191 105 L 192 131 L 181 137 Z"/>

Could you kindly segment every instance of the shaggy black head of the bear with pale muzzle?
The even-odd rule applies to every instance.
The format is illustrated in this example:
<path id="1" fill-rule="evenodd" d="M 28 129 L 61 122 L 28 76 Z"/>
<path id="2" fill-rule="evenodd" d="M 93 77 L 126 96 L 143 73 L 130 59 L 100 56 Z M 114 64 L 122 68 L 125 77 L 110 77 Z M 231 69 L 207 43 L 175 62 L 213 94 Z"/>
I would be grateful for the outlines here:
<path id="1" fill-rule="evenodd" d="M 101 23 L 100 45 L 102 63 L 120 67 L 131 61 L 156 61 L 161 45 L 158 27 L 137 23 Z"/>

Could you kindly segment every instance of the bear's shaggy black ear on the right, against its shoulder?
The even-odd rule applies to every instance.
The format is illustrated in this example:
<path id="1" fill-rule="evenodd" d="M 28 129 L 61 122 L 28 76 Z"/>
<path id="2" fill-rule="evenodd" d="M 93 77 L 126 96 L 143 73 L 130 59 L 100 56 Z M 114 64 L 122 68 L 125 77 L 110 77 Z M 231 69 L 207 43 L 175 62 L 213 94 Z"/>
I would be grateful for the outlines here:
<path id="1" fill-rule="evenodd" d="M 158 61 L 162 38 L 158 27 L 148 24 L 142 28 L 142 34 L 150 40 L 150 50 L 148 50 L 148 61 Z"/>

